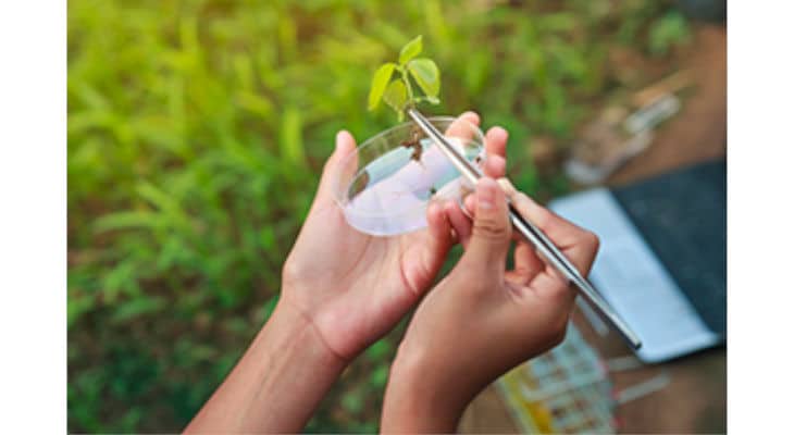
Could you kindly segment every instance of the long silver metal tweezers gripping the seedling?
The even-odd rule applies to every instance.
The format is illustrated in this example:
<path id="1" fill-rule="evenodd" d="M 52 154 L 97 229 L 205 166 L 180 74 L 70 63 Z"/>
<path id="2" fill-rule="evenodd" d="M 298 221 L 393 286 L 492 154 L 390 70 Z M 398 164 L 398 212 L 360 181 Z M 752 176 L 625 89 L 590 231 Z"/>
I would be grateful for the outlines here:
<path id="1" fill-rule="evenodd" d="M 475 185 L 477 179 L 483 176 L 480 169 L 473 165 L 469 160 L 452 146 L 438 129 L 427 121 L 415 109 L 408 109 L 408 115 L 419 125 L 419 127 L 441 148 L 442 152 L 450 160 L 455 167 L 470 182 Z M 508 199 L 508 208 L 510 210 L 510 222 L 513 227 L 532 244 L 538 253 L 551 266 L 557 269 L 568 281 L 576 286 L 579 293 L 592 303 L 604 318 L 620 333 L 629 345 L 634 349 L 642 346 L 642 341 L 629 327 L 629 325 L 612 310 L 601 295 L 593 287 L 587 279 L 579 273 L 571 261 L 549 240 L 537 226 L 526 221 L 516 207 Z"/>

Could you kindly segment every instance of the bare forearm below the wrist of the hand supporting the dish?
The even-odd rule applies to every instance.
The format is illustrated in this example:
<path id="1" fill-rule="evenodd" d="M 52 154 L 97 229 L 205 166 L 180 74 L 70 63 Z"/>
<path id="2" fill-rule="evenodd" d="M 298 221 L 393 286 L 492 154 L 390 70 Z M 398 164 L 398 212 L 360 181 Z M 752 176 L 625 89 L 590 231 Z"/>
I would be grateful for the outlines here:
<path id="1" fill-rule="evenodd" d="M 312 324 L 280 302 L 185 432 L 299 432 L 344 366 Z"/>

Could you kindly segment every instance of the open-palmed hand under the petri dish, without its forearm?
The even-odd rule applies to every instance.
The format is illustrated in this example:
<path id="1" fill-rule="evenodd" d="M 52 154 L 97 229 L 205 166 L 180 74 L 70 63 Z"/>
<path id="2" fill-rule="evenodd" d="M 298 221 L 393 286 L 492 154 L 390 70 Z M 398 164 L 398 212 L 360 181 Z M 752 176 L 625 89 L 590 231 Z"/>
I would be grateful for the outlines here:
<path id="1" fill-rule="evenodd" d="M 472 112 L 460 119 L 480 123 Z M 486 148 L 504 149 L 504 135 L 488 132 Z M 438 203 L 429 206 L 423 231 L 374 237 L 352 228 L 335 203 L 333 184 L 355 148 L 349 133 L 337 135 L 314 203 L 284 265 L 282 289 L 283 303 L 301 312 L 343 361 L 392 330 L 419 301 L 455 241 Z"/>

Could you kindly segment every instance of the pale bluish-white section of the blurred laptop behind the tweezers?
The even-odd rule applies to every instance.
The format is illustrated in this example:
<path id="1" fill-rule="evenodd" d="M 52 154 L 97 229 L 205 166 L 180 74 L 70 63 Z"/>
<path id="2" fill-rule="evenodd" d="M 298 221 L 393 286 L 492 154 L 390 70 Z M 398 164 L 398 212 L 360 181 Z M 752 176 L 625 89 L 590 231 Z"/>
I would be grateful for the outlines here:
<path id="1" fill-rule="evenodd" d="M 598 235 L 590 278 L 640 336 L 640 359 L 659 362 L 719 341 L 608 189 L 572 195 L 550 208 Z"/>

